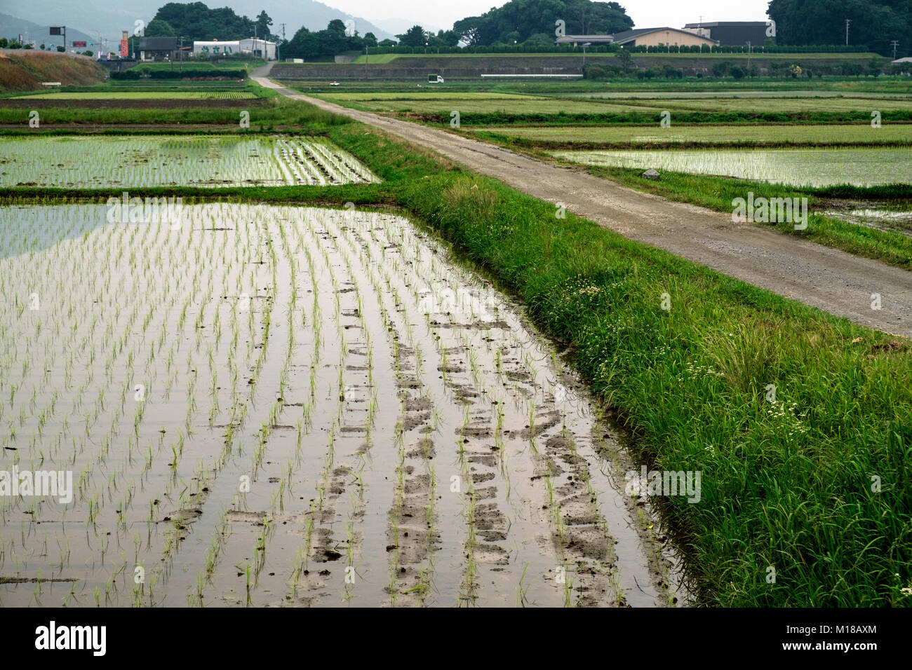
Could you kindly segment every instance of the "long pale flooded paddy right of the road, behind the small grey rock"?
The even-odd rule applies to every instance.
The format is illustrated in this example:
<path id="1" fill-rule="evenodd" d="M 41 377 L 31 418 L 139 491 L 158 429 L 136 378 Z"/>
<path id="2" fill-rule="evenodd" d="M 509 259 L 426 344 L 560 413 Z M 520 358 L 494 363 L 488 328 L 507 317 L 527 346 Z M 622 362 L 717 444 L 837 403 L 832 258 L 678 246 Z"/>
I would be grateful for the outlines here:
<path id="1" fill-rule="evenodd" d="M 871 130 L 874 132 L 873 130 Z M 875 186 L 912 182 L 912 149 L 645 149 L 555 151 L 586 165 L 672 170 L 791 186 Z"/>

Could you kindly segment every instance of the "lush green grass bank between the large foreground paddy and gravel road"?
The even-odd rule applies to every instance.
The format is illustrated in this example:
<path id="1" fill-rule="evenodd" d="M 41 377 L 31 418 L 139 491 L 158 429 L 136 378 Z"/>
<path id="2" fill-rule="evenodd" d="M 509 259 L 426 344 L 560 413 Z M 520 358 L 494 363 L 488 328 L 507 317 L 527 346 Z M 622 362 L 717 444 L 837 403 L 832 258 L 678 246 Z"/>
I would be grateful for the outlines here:
<path id="1" fill-rule="evenodd" d="M 130 195 L 405 208 L 572 345 L 575 365 L 649 468 L 700 470 L 700 503 L 662 502 L 702 603 L 912 602 L 903 592 L 912 587 L 907 341 L 573 215 L 557 220 L 549 203 L 360 124 L 340 119 L 314 131 L 385 181 Z M 16 189 L 4 200 L 30 195 L 98 199 L 108 191 Z"/>

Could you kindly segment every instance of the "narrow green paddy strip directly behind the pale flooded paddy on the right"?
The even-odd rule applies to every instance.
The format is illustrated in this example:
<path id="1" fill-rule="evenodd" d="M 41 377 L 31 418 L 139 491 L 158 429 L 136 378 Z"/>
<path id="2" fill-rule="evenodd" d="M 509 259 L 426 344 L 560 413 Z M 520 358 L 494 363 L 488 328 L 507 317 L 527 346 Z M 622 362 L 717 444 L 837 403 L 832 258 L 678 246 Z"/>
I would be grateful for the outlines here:
<path id="1" fill-rule="evenodd" d="M 685 126 L 487 126 L 473 129 L 508 138 L 560 144 L 858 144 L 912 145 L 912 124 Z"/>

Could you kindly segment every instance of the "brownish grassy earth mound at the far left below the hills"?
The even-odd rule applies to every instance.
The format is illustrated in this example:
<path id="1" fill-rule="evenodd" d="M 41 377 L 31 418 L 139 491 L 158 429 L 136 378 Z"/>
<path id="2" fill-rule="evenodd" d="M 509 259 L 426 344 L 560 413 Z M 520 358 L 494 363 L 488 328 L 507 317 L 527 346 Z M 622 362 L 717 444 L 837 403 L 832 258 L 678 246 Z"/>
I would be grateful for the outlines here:
<path id="1" fill-rule="evenodd" d="M 91 86 L 108 77 L 92 58 L 47 51 L 0 51 L 0 92 L 42 88 L 43 81 L 62 86 Z"/>

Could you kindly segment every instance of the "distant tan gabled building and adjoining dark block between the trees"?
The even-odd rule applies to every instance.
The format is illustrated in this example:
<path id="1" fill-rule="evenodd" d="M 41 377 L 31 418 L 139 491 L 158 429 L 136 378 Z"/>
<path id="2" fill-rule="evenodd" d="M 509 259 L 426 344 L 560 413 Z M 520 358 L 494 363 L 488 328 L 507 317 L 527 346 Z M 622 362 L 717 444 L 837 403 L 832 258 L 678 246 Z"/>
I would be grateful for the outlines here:
<path id="1" fill-rule="evenodd" d="M 751 42 L 762 45 L 766 40 L 765 21 L 714 21 L 688 24 L 683 28 L 636 28 L 615 35 L 565 35 L 557 44 L 618 46 L 733 46 Z"/>

